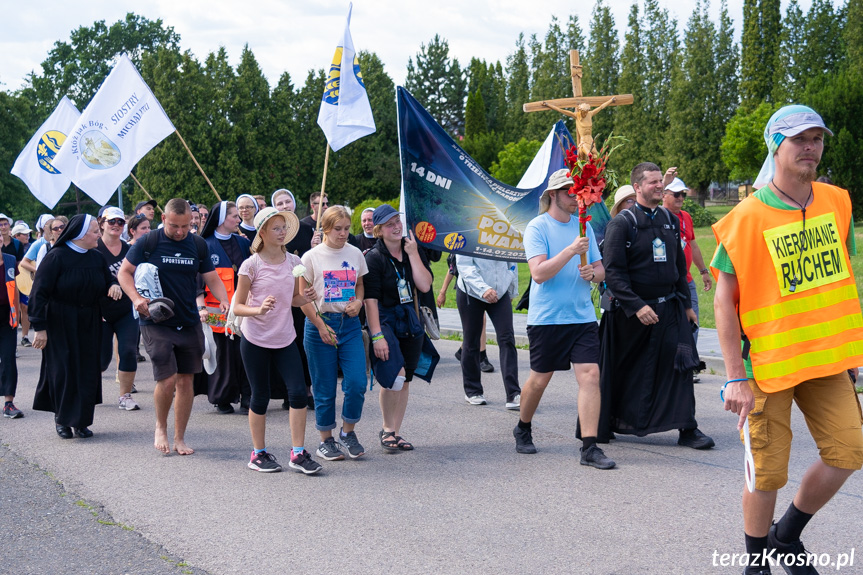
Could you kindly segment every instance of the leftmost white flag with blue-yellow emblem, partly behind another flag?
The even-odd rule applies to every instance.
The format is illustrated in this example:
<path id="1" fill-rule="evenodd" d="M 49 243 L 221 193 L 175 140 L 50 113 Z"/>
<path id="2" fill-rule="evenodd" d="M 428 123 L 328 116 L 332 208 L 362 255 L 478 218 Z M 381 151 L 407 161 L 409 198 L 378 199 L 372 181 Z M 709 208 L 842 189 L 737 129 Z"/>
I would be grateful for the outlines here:
<path id="1" fill-rule="evenodd" d="M 63 96 L 12 166 L 12 174 L 21 178 L 36 199 L 49 209 L 57 205 L 72 183 L 68 174 L 54 166 L 54 158 L 80 116 L 78 108 Z"/>

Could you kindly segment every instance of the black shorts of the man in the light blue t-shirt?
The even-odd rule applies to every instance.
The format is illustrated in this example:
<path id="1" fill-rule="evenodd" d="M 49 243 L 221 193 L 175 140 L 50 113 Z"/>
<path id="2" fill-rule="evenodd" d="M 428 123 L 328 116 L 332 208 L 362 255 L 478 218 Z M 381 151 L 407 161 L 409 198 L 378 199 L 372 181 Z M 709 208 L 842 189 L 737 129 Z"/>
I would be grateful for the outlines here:
<path id="1" fill-rule="evenodd" d="M 573 363 L 599 363 L 596 322 L 529 325 L 530 369 L 537 373 L 567 371 Z"/>

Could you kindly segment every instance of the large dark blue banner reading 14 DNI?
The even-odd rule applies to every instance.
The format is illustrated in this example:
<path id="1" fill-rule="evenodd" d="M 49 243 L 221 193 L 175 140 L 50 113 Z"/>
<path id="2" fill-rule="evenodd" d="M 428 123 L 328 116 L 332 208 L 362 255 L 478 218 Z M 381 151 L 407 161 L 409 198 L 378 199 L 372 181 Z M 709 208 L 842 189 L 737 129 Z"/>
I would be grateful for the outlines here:
<path id="1" fill-rule="evenodd" d="M 565 150 L 573 143 L 566 125 L 558 121 L 554 126 L 556 142 L 542 184 L 516 188 L 483 170 L 407 90 L 400 86 L 397 92 L 401 207 L 417 241 L 446 252 L 524 261 L 522 234 L 539 213 L 549 176 L 566 167 Z M 597 203 L 588 214 L 602 241 L 608 208 Z"/>

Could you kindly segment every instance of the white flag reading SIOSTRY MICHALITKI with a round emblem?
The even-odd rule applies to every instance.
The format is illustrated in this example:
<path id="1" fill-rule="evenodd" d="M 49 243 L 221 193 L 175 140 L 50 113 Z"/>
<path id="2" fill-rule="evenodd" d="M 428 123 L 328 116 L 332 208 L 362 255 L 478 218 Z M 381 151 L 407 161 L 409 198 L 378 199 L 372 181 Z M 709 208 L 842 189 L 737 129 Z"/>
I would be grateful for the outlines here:
<path id="1" fill-rule="evenodd" d="M 135 65 L 123 54 L 81 113 L 54 165 L 105 205 L 135 164 L 174 130 Z"/>

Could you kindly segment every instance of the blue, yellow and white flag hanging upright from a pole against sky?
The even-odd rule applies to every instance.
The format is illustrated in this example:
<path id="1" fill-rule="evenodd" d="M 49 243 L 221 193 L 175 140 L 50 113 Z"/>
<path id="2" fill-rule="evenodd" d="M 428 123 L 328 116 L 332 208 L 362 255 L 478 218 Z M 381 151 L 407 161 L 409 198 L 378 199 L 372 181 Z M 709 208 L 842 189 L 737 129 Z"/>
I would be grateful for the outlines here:
<path id="1" fill-rule="evenodd" d="M 318 112 L 318 125 L 334 152 L 375 132 L 369 95 L 351 39 L 352 9 L 353 4 L 348 7 L 345 32 L 336 47 Z"/>

